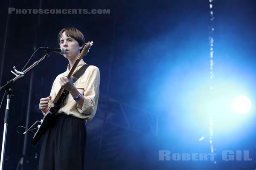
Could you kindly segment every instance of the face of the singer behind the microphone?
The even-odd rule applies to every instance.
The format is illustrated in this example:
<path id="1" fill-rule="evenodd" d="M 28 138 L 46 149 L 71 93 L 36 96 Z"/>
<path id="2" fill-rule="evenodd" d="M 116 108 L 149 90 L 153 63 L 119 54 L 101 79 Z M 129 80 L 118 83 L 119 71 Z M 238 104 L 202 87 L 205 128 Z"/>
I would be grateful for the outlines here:
<path id="1" fill-rule="evenodd" d="M 61 35 L 60 46 L 66 48 L 64 57 L 67 59 L 76 58 L 80 54 L 80 50 L 82 48 L 79 47 L 79 43 L 75 39 L 67 37 L 65 32 L 63 32 Z"/>

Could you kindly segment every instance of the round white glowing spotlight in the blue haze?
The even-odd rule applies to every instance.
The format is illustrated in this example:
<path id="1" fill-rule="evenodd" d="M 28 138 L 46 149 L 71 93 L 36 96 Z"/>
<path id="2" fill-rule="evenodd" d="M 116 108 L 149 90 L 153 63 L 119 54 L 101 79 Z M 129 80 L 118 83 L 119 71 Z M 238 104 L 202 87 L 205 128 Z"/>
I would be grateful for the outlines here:
<path id="1" fill-rule="evenodd" d="M 251 107 L 252 103 L 247 96 L 237 96 L 232 102 L 232 110 L 236 113 L 247 113 Z"/>

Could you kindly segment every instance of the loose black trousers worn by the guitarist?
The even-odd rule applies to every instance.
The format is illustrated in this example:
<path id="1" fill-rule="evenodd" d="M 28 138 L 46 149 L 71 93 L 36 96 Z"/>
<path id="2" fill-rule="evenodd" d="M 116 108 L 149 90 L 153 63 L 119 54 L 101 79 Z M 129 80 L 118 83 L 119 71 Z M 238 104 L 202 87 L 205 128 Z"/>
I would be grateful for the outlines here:
<path id="1" fill-rule="evenodd" d="M 83 170 L 85 143 L 83 119 L 56 116 L 55 124 L 44 135 L 39 170 Z"/>

